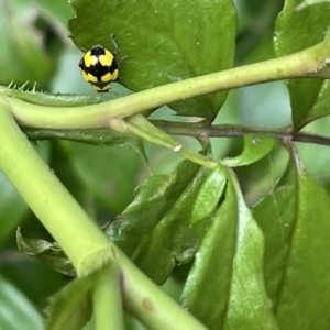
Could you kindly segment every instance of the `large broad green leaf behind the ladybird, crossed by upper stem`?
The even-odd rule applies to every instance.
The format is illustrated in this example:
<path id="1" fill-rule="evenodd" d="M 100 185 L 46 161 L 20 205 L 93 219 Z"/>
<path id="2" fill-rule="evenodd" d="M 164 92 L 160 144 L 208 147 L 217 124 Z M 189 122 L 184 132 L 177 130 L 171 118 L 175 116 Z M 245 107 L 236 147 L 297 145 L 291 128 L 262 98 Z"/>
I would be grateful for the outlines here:
<path id="1" fill-rule="evenodd" d="M 235 11 L 232 1 L 74 0 L 77 18 L 69 30 L 80 48 L 101 44 L 128 56 L 120 73 L 134 90 L 230 68 L 234 61 Z M 109 19 L 111 24 L 109 24 Z M 92 26 L 92 29 L 90 29 Z M 180 116 L 213 119 L 227 92 L 172 105 Z"/>

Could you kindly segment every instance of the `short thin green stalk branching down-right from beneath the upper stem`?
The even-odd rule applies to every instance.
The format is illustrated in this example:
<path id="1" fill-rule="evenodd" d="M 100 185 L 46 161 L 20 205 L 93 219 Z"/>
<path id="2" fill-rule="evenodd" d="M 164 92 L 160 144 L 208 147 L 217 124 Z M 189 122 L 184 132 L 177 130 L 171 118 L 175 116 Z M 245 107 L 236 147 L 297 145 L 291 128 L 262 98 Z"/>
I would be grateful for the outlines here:
<path id="1" fill-rule="evenodd" d="M 142 114 L 132 116 L 127 120 L 112 120 L 110 121 L 110 127 L 119 132 L 133 133 L 146 141 L 166 146 L 186 160 L 190 160 L 191 162 L 201 166 L 213 168 L 218 164 L 217 162 L 208 160 L 207 157 L 185 147 L 177 140 L 154 127 Z"/>

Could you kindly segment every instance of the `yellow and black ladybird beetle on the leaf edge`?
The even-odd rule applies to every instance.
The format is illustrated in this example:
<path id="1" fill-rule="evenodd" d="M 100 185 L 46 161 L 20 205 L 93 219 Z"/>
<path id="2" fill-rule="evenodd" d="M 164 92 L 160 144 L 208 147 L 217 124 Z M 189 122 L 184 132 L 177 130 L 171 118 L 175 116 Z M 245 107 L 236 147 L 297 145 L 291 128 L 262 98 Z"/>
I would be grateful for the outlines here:
<path id="1" fill-rule="evenodd" d="M 109 91 L 112 81 L 118 81 L 118 64 L 116 56 L 119 54 L 118 45 L 111 35 L 113 54 L 100 45 L 95 45 L 91 50 L 85 51 L 79 62 L 81 75 L 97 91 Z"/>

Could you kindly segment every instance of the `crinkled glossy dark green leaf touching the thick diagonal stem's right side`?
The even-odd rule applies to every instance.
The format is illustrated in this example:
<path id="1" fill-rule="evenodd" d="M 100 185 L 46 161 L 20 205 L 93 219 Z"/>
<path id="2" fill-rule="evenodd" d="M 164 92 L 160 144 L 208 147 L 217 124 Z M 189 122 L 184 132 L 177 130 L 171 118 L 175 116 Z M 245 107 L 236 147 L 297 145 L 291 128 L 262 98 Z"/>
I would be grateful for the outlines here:
<path id="1" fill-rule="evenodd" d="M 193 260 L 224 185 L 220 165 L 211 170 L 184 161 L 168 176 L 139 186 L 134 201 L 106 232 L 143 272 L 164 283 L 176 264 Z"/>

